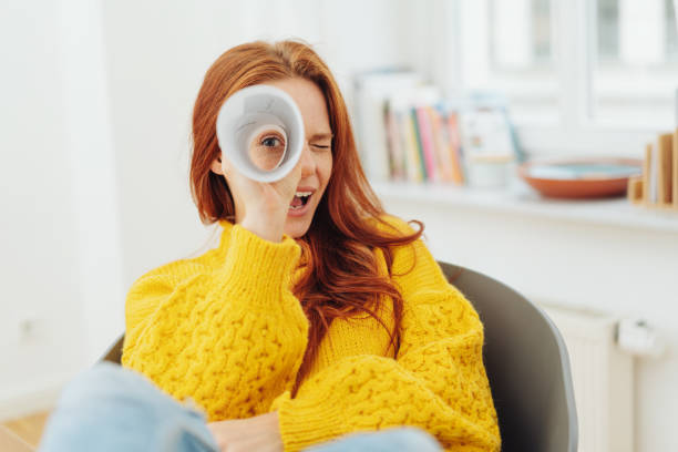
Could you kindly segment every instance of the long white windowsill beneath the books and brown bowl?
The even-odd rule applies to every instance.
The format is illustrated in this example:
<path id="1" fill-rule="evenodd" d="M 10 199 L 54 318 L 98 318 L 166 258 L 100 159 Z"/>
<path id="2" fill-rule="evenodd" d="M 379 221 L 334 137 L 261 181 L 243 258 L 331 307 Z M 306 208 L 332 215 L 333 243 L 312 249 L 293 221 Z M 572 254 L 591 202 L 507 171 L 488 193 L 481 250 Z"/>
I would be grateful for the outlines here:
<path id="1" fill-rule="evenodd" d="M 547 199 L 516 181 L 505 189 L 480 189 L 436 184 L 371 183 L 388 202 L 414 202 L 490 213 L 526 215 L 581 224 L 678 234 L 678 209 L 650 209 L 631 205 L 626 197 L 605 199 Z"/>

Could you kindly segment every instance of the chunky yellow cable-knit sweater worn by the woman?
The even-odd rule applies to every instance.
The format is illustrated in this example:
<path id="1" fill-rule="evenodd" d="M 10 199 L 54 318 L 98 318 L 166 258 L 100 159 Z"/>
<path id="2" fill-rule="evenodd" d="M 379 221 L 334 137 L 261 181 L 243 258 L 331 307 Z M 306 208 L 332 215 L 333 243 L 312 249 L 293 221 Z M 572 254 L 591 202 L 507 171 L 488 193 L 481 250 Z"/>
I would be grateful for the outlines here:
<path id="1" fill-rule="evenodd" d="M 308 331 L 290 291 L 300 276 L 300 247 L 287 235 L 275 244 L 219 223 L 217 248 L 133 284 L 123 366 L 179 401 L 193 399 L 208 421 L 277 410 L 286 451 L 394 425 L 420 427 L 446 450 L 499 451 L 482 323 L 421 240 L 394 251 L 393 275 L 412 268 L 393 277 L 404 299 L 398 357 L 373 318 L 337 319 L 291 399 Z"/>

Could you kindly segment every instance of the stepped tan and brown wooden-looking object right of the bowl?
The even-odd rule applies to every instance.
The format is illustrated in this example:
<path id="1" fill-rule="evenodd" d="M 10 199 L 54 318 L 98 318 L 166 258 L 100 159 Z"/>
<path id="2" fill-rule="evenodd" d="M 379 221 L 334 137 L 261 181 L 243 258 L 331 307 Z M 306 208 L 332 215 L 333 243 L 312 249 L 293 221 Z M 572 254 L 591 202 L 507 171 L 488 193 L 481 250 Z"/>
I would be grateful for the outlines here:
<path id="1" fill-rule="evenodd" d="M 627 196 L 635 205 L 678 212 L 678 127 L 647 144 L 643 175 L 631 177 Z"/>

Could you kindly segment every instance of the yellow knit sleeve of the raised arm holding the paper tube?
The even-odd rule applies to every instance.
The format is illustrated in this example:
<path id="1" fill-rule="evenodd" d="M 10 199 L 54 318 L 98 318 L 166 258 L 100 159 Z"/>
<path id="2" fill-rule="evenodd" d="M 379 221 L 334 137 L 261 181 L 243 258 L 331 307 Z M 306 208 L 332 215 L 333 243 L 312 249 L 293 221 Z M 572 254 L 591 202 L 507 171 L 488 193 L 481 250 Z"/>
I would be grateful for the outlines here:
<path id="1" fill-rule="evenodd" d="M 308 321 L 289 290 L 300 248 L 235 225 L 224 261 L 173 263 L 134 282 L 125 305 L 123 366 L 177 400 L 189 397 L 208 421 L 266 412 L 291 388 Z"/>

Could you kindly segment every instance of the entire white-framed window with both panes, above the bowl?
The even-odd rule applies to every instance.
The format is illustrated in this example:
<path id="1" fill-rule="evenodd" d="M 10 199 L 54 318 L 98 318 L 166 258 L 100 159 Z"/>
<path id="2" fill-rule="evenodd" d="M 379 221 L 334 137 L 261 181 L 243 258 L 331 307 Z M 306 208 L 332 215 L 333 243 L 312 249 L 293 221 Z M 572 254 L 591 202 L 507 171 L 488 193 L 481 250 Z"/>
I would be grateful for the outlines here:
<path id="1" fill-rule="evenodd" d="M 455 0 L 455 88 L 499 90 L 528 152 L 639 153 L 676 126 L 675 0 Z"/>

